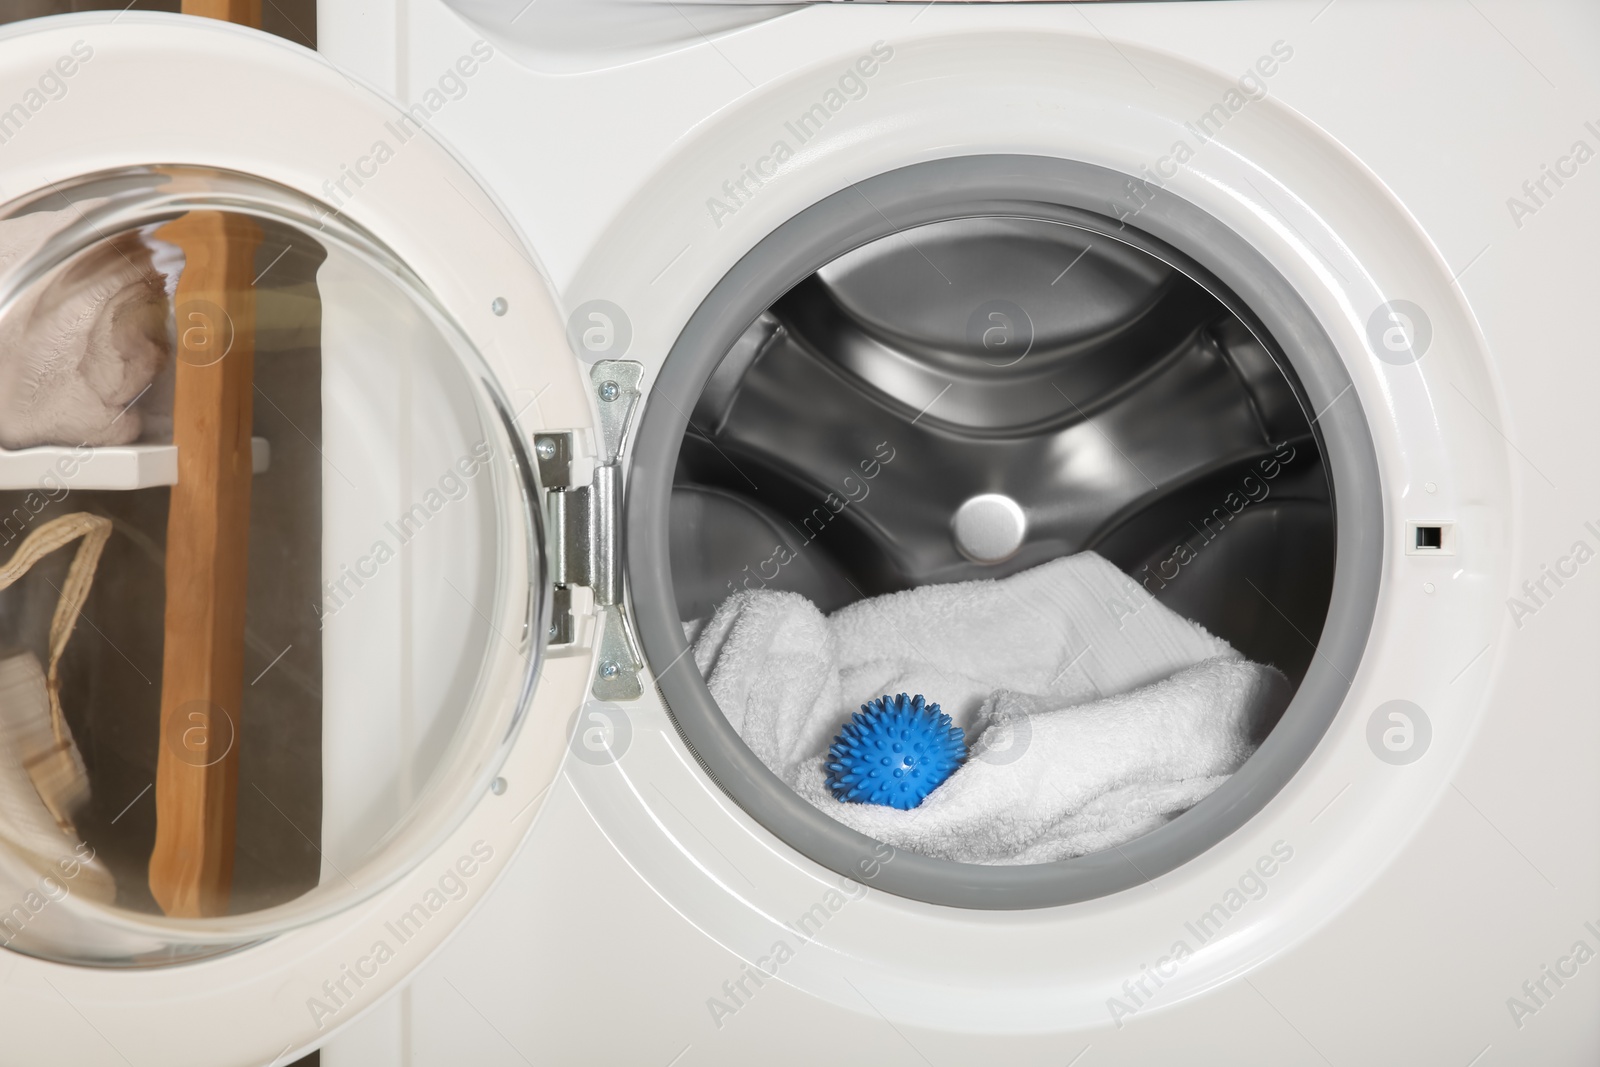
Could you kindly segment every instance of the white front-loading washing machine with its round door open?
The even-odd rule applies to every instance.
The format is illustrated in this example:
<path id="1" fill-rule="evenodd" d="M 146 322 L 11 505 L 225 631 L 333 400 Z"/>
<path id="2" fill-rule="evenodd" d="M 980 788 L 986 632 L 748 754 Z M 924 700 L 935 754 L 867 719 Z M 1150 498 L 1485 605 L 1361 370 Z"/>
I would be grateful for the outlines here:
<path id="1" fill-rule="evenodd" d="M 176 354 L 0 442 L 110 523 L 0 593 L 90 784 L 0 1061 L 1595 1061 L 1600 14 L 318 14 L 0 37 L 0 328 Z M 694 654 L 1083 552 L 1288 693 L 1072 854 L 850 829 Z"/>

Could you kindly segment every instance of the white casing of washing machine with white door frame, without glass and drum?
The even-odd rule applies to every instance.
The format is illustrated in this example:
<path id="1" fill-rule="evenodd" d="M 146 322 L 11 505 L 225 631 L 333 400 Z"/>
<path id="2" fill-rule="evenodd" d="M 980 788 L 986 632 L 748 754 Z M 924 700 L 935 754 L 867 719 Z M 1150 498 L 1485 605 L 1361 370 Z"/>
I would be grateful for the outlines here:
<path id="1" fill-rule="evenodd" d="M 30 1048 L 80 1035 L 75 1062 L 173 1062 L 162 1030 L 186 1037 L 179 1062 L 310 1046 L 330 1064 L 1594 1061 L 1600 493 L 1581 427 L 1600 371 L 1579 354 L 1600 70 L 1581 45 L 1600 18 L 1354 0 L 818 5 L 549 74 L 514 19 L 432 2 L 322 14 L 334 67 L 424 106 L 450 146 L 437 173 L 490 194 L 405 187 L 405 157 L 358 195 L 318 192 L 371 146 L 355 123 L 298 123 L 283 106 L 262 109 L 282 139 L 240 138 L 226 157 L 195 138 L 35 149 L 8 192 L 163 147 L 301 189 L 390 242 L 498 354 L 507 392 L 541 395 L 530 429 L 592 442 L 584 360 L 530 347 L 570 315 L 626 317 L 626 352 L 610 355 L 642 365 L 648 414 L 707 296 L 829 197 L 950 158 L 1106 168 L 1128 176 L 1107 216 L 1154 218 L 1152 189 L 1205 211 L 1336 349 L 1349 387 L 1315 414 L 1355 405 L 1370 429 L 1370 630 L 1320 742 L 1238 829 L 1117 893 L 1029 909 L 910 899 L 875 885 L 877 869 L 851 880 L 797 851 L 696 761 L 648 685 L 670 664 L 646 664 L 638 699 L 582 702 L 598 659 L 584 632 L 546 662 L 506 793 L 406 880 L 205 963 L 130 974 L 19 958 L 8 1032 Z M 160 53 L 139 35 L 174 30 L 126 22 L 94 30 L 101 54 L 133 42 L 101 77 L 154 96 Z M 6 40 L 18 93 L 30 62 L 99 26 Z M 267 50 L 219 29 L 178 37 L 166 54 L 237 48 L 216 59 L 222 82 L 248 83 L 240 70 Z M 290 66 L 307 107 L 318 91 L 368 99 L 304 58 Z M 797 131 L 816 106 L 826 122 Z M 496 213 L 510 224 L 488 238 Z M 1408 550 L 1418 525 L 1446 530 L 1450 552 Z M 608 747 L 584 744 L 586 723 Z M 478 838 L 504 864 L 493 893 L 485 880 L 403 969 L 317 1011 L 386 909 Z M 822 925 L 800 921 L 819 905 Z"/>

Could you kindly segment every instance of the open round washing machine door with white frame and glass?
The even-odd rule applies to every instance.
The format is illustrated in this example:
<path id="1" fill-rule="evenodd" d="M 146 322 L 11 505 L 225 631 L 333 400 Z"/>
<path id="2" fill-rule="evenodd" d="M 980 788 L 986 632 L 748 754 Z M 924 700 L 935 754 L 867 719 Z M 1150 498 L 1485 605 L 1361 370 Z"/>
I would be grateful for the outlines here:
<path id="1" fill-rule="evenodd" d="M 579 373 L 443 93 L 122 14 L 13 27 L 0 99 L 8 1046 L 285 1059 L 488 891 L 597 633 L 629 685 L 541 478 L 605 526 L 637 365 Z"/>

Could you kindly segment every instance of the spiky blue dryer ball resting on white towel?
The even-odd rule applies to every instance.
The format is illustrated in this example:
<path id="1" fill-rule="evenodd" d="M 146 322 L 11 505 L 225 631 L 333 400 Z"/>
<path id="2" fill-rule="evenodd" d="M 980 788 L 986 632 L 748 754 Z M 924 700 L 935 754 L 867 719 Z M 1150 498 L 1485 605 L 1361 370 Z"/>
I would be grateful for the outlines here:
<path id="1" fill-rule="evenodd" d="M 915 808 L 966 758 L 966 734 L 922 694 L 880 696 L 850 717 L 827 750 L 837 800 Z"/>

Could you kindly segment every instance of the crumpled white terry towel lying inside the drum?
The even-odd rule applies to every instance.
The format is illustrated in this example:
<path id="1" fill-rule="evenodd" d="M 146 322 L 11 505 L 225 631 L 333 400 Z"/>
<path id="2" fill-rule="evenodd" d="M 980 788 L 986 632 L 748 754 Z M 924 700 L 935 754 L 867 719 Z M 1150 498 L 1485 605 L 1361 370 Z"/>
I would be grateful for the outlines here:
<path id="1" fill-rule="evenodd" d="M 925 585 L 824 617 L 730 597 L 694 661 L 750 750 L 845 825 L 898 848 L 1032 864 L 1110 848 L 1210 795 L 1254 752 L 1288 681 L 1093 552 L 1000 581 Z M 824 752 L 878 696 L 938 702 L 973 755 L 920 806 L 834 800 Z"/>

